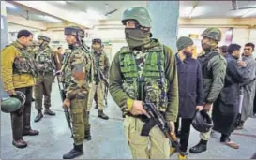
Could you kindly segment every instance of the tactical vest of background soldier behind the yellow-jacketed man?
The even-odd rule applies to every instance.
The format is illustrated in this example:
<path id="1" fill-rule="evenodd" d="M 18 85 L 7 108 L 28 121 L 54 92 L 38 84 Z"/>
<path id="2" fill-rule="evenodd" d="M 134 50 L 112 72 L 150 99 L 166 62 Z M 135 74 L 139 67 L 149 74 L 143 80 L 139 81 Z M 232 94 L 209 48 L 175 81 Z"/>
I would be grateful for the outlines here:
<path id="1" fill-rule="evenodd" d="M 45 73 L 53 73 L 55 65 L 53 63 L 52 51 L 49 47 L 39 49 L 36 54 L 36 62 L 38 65 L 38 71 L 41 75 L 44 75 Z"/>

